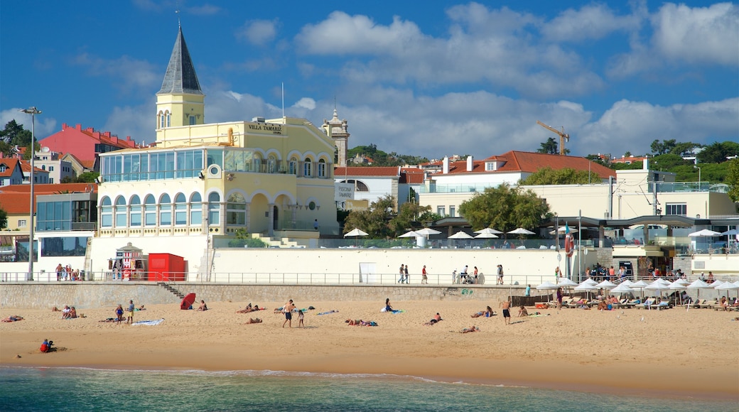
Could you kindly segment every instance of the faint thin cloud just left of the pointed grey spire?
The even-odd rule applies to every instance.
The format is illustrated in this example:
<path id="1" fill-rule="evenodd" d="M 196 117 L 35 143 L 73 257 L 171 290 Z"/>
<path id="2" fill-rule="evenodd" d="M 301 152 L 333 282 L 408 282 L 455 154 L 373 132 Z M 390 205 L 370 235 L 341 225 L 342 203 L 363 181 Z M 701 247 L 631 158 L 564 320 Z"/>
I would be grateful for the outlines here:
<path id="1" fill-rule="evenodd" d="M 112 78 L 113 86 L 124 92 L 149 95 L 152 89 L 160 86 L 163 76 L 160 69 L 148 61 L 136 60 L 126 55 L 109 60 L 81 53 L 75 56 L 72 63 L 83 66 L 89 75 Z"/>

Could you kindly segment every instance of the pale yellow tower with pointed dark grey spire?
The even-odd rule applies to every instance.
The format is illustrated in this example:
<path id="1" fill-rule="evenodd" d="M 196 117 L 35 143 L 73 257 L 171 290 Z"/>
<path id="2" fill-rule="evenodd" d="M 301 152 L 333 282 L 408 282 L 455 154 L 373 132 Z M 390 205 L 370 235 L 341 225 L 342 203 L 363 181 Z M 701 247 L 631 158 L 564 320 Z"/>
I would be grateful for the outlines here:
<path id="1" fill-rule="evenodd" d="M 204 100 L 180 26 L 162 88 L 157 92 L 157 135 L 168 127 L 204 124 Z"/>

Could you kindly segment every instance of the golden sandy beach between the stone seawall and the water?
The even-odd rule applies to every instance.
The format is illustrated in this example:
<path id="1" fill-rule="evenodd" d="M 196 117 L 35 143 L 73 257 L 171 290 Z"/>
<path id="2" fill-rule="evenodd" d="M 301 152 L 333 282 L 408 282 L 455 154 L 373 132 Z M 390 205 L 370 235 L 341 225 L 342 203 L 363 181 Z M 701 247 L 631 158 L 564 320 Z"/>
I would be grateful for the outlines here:
<path id="1" fill-rule="evenodd" d="M 235 313 L 248 302 L 208 302 L 207 312 L 177 304 L 146 305 L 134 320 L 157 326 L 104 323 L 114 307 L 78 311 L 62 320 L 50 309 L 0 309 L 24 320 L 0 323 L 0 364 L 129 369 L 281 370 L 398 374 L 449 382 L 480 382 L 646 396 L 739 399 L 739 321 L 712 309 L 599 312 L 534 309 L 506 326 L 498 302 L 303 302 L 313 306 L 304 329 L 283 329 L 284 302 L 251 302 L 265 311 Z M 121 302 L 123 303 L 123 302 Z M 73 304 L 73 302 L 70 302 Z M 471 318 L 490 305 L 497 315 Z M 124 305 L 125 307 L 126 305 Z M 197 307 L 197 306 L 196 306 Z M 60 308 L 61 309 L 61 308 Z M 332 310 L 338 313 L 318 315 Z M 443 320 L 424 326 L 436 312 Z M 250 317 L 263 323 L 245 324 Z M 348 326 L 344 320 L 378 326 Z M 461 334 L 465 327 L 480 331 Z M 45 338 L 58 351 L 38 351 Z M 18 357 L 18 355 L 20 357 Z"/>

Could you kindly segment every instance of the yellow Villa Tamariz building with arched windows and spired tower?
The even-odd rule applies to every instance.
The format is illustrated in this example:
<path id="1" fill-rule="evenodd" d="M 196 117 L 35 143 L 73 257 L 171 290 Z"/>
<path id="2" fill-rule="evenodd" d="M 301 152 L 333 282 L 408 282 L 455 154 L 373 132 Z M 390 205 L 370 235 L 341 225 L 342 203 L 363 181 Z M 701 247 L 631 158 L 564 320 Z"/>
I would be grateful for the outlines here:
<path id="1" fill-rule="evenodd" d="M 192 272 L 211 241 L 237 230 L 338 233 L 332 138 L 302 118 L 205 123 L 204 98 L 180 29 L 157 92 L 156 142 L 101 154 L 95 253 L 131 241 L 184 255 Z"/>

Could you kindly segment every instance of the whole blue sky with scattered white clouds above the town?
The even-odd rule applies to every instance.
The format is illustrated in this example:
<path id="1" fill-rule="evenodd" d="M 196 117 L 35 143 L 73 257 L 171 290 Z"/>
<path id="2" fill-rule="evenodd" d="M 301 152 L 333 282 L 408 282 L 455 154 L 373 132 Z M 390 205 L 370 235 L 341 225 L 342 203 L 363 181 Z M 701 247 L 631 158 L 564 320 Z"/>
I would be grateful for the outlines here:
<path id="1" fill-rule="evenodd" d="M 178 16 L 208 123 L 281 117 L 284 82 L 287 116 L 429 158 L 535 151 L 537 120 L 582 156 L 739 141 L 739 6 L 709 1 L 3 1 L 0 122 L 151 143 Z"/>

